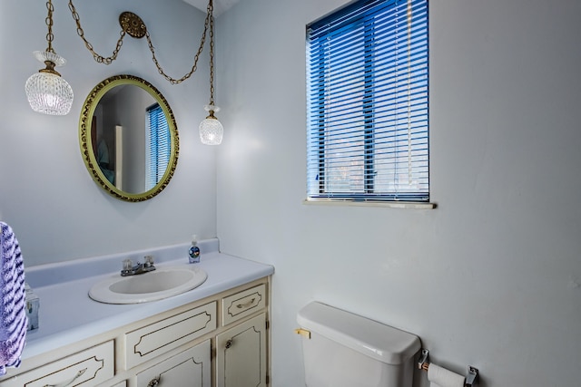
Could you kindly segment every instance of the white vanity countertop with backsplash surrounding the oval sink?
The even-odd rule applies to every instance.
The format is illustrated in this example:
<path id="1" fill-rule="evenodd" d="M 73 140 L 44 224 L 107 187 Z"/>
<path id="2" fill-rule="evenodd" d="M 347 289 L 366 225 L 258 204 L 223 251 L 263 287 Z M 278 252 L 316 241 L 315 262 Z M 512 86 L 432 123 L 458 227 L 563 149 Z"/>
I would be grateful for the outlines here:
<path id="1" fill-rule="evenodd" d="M 22 359 L 111 331 L 274 273 L 273 266 L 218 252 L 217 240 L 212 239 L 206 243 L 202 241 L 199 246 L 202 249 L 202 259 L 198 264 L 188 263 L 189 244 L 185 244 L 78 260 L 69 264 L 34 266 L 26 270 L 26 282 L 40 298 L 40 308 L 39 328 L 26 335 Z M 148 254 L 155 257 L 155 266 L 197 265 L 206 271 L 208 278 L 202 285 L 182 295 L 149 303 L 111 305 L 89 298 L 91 286 L 119 272 L 124 257 Z M 181 257 L 175 259 L 175 256 Z M 91 276 L 95 273 L 96 275 Z"/>

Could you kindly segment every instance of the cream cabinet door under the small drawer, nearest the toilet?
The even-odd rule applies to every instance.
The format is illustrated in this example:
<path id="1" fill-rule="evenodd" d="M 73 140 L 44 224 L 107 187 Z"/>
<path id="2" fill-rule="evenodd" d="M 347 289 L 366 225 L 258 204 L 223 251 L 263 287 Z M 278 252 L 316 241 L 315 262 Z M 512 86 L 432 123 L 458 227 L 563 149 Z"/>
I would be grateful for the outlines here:
<path id="1" fill-rule="evenodd" d="M 266 314 L 216 336 L 216 386 L 266 386 Z"/>

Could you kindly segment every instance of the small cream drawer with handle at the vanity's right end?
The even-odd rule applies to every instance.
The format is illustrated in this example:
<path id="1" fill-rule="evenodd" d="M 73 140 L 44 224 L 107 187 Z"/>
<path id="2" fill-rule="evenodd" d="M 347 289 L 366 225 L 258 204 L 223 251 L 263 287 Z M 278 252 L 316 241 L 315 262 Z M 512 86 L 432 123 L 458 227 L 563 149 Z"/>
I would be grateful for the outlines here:
<path id="1" fill-rule="evenodd" d="M 257 312 L 265 305 L 266 286 L 264 284 L 224 297 L 222 298 L 222 325 L 228 325 Z"/>

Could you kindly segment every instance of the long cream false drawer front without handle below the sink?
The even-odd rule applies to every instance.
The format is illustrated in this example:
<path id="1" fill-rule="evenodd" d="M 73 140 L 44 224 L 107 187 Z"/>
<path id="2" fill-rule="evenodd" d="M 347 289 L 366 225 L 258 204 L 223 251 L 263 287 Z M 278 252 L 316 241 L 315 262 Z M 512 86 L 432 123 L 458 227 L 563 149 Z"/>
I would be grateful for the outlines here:
<path id="1" fill-rule="evenodd" d="M 124 334 L 125 369 L 166 353 L 216 329 L 212 302 Z"/>

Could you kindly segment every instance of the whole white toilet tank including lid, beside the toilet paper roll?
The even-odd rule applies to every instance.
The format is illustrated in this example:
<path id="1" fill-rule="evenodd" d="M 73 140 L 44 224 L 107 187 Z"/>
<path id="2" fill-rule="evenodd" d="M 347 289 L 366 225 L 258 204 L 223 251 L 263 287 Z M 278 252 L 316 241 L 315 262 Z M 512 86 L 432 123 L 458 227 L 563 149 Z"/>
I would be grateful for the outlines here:
<path id="1" fill-rule="evenodd" d="M 308 387 L 411 387 L 419 337 L 330 305 L 297 315 Z"/>

